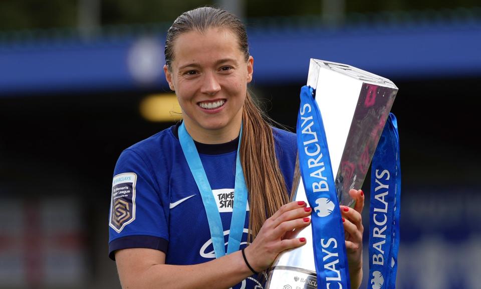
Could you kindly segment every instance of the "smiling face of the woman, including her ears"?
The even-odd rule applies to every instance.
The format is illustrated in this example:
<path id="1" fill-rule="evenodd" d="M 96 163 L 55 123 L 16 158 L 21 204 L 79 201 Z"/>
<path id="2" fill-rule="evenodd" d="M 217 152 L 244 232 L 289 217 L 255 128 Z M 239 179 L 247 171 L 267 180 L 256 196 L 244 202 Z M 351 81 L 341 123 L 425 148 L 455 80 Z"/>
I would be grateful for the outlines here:
<path id="1" fill-rule="evenodd" d="M 229 29 L 183 33 L 173 48 L 171 71 L 164 66 L 164 72 L 189 132 L 236 130 L 238 134 L 253 58 L 246 61 Z"/>

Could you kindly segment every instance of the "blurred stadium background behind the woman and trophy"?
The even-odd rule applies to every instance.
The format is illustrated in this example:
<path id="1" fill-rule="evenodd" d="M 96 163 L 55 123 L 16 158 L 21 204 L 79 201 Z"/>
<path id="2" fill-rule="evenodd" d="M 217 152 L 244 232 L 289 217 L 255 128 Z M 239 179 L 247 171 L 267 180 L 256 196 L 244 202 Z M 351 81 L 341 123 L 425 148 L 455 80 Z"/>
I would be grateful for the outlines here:
<path id="1" fill-rule="evenodd" d="M 0 288 L 120 288 L 107 256 L 113 169 L 179 119 L 165 33 L 205 5 L 244 19 L 251 90 L 292 131 L 310 58 L 399 87 L 398 288 L 481 288 L 475 0 L 1 0 Z"/>

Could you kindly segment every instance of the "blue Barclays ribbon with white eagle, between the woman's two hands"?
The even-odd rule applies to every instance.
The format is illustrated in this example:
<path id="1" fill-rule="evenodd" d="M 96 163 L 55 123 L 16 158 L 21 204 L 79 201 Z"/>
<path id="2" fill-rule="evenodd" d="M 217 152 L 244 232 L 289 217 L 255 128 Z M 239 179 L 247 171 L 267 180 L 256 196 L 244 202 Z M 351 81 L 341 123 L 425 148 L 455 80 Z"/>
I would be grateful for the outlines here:
<path id="1" fill-rule="evenodd" d="M 318 288 L 349 289 L 344 226 L 321 113 L 314 90 L 301 88 L 297 145 L 304 189 L 312 213 L 314 261 Z"/>

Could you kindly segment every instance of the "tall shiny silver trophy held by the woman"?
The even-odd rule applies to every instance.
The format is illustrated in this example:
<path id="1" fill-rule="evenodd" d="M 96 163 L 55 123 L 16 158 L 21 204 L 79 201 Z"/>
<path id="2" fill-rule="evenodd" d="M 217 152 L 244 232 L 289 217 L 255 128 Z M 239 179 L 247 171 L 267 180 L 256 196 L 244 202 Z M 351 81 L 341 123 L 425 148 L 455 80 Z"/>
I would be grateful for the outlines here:
<path id="1" fill-rule="evenodd" d="M 317 59 L 311 59 L 307 85 L 315 89 L 332 171 L 337 172 L 334 182 L 339 202 L 354 207 L 349 190 L 362 187 L 398 89 L 389 79 Z M 292 200 L 307 202 L 298 164 L 293 184 Z M 305 237 L 307 244 L 277 257 L 266 288 L 317 288 L 311 225 L 297 237 Z"/>

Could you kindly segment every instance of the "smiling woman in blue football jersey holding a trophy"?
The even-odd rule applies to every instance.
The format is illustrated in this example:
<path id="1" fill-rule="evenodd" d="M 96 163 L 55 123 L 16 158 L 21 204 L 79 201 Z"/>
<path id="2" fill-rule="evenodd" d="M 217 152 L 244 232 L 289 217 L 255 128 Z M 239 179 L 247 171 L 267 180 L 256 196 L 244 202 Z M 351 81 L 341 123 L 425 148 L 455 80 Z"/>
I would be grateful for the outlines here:
<path id="1" fill-rule="evenodd" d="M 244 25 L 230 13 L 198 8 L 179 16 L 167 33 L 165 59 L 183 122 L 125 150 L 117 162 L 109 251 L 122 286 L 259 288 L 255 272 L 306 243 L 291 237 L 311 214 L 304 202 L 288 201 L 296 136 L 272 128 L 254 105 L 247 91 L 254 59 Z M 357 288 L 364 197 L 351 194 L 357 207 L 341 211 Z"/>

